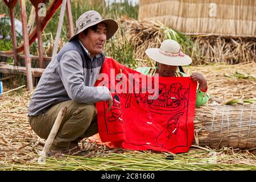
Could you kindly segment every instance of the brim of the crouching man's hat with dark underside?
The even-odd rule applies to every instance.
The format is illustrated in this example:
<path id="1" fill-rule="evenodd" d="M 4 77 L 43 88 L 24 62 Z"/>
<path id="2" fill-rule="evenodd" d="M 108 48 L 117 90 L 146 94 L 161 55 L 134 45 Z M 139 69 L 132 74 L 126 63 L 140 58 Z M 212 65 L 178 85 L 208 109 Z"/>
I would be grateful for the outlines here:
<path id="1" fill-rule="evenodd" d="M 104 19 L 104 20 L 99 20 L 96 22 L 89 23 L 88 26 L 85 26 L 84 28 L 81 28 L 75 35 L 72 36 L 71 39 L 69 39 L 69 42 L 73 40 L 77 35 L 79 35 L 82 31 L 84 31 L 86 28 L 92 27 L 98 23 L 104 22 L 106 24 L 106 39 L 112 38 L 112 36 L 115 34 L 115 32 L 118 30 L 118 24 L 115 22 L 113 19 Z"/>

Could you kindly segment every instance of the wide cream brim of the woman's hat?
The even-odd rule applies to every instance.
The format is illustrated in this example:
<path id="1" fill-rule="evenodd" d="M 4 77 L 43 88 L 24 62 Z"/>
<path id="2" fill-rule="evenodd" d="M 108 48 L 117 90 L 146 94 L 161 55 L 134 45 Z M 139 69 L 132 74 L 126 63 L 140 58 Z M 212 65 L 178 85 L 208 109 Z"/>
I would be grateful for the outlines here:
<path id="1" fill-rule="evenodd" d="M 167 64 L 172 66 L 183 66 L 183 65 L 189 65 L 192 63 L 192 59 L 188 55 L 185 55 L 184 57 L 166 56 L 159 52 L 159 48 L 148 48 L 146 49 L 145 53 L 152 60 L 162 64 Z"/>

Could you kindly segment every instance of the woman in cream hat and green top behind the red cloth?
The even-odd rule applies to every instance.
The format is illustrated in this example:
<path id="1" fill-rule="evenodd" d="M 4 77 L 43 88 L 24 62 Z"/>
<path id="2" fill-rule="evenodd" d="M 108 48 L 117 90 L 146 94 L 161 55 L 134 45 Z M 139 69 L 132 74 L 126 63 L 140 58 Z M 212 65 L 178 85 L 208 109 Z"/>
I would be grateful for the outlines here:
<path id="1" fill-rule="evenodd" d="M 156 61 L 156 67 L 139 67 L 135 71 L 149 76 L 159 73 L 159 76 L 163 77 L 188 77 L 185 73 L 178 72 L 177 68 L 191 64 L 192 60 L 180 51 L 180 45 L 175 40 L 164 40 L 160 48 L 146 49 L 146 54 Z M 190 77 L 199 84 L 196 92 L 196 107 L 206 104 L 210 98 L 207 93 L 207 80 L 200 73 L 192 73 Z"/>

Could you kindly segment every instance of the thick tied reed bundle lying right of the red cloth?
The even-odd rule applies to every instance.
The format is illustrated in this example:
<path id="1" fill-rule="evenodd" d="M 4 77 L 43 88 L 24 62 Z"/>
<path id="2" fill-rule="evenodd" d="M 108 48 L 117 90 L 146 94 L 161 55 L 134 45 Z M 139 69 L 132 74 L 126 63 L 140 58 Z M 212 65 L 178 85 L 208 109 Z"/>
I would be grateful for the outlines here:
<path id="1" fill-rule="evenodd" d="M 256 149 L 256 106 L 207 105 L 196 109 L 195 144 Z"/>

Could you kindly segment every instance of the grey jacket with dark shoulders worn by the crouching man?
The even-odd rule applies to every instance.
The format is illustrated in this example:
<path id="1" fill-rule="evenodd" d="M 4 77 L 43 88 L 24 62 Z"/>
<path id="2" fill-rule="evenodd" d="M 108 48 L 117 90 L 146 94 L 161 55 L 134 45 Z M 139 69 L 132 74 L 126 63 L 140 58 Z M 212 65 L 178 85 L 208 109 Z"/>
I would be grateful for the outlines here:
<path id="1" fill-rule="evenodd" d="M 28 115 L 40 115 L 51 106 L 73 100 L 93 104 L 110 99 L 109 89 L 96 86 L 105 56 L 91 59 L 79 39 L 67 43 L 45 69 L 28 106 Z"/>

